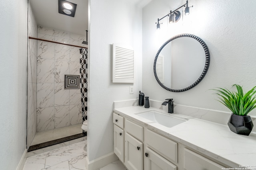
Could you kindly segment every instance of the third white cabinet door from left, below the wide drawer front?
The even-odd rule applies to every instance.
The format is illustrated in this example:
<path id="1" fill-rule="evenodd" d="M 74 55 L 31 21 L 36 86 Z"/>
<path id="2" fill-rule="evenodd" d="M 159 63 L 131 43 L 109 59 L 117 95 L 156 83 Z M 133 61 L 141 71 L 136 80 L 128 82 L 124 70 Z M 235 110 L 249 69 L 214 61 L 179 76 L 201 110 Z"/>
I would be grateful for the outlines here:
<path id="1" fill-rule="evenodd" d="M 144 155 L 144 169 L 177 170 L 177 166 L 147 147 Z"/>

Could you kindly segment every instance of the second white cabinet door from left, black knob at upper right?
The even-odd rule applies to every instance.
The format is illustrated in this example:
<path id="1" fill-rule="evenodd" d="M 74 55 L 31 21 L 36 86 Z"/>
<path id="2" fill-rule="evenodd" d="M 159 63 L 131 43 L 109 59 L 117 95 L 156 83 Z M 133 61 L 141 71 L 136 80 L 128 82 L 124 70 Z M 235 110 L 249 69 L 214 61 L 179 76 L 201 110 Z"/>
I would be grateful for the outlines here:
<path id="1" fill-rule="evenodd" d="M 129 170 L 143 170 L 143 144 L 125 133 L 125 165 Z"/>

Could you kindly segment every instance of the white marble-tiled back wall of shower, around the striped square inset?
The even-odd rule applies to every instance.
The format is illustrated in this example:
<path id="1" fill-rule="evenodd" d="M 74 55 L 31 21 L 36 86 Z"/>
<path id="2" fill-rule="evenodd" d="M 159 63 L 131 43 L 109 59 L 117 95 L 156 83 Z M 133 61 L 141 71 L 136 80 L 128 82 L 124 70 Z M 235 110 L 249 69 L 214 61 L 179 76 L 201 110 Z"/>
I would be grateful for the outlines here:
<path id="1" fill-rule="evenodd" d="M 86 37 L 38 26 L 38 38 L 84 46 Z M 80 75 L 79 47 L 38 41 L 37 131 L 82 123 L 80 89 L 65 90 L 64 75 Z"/>

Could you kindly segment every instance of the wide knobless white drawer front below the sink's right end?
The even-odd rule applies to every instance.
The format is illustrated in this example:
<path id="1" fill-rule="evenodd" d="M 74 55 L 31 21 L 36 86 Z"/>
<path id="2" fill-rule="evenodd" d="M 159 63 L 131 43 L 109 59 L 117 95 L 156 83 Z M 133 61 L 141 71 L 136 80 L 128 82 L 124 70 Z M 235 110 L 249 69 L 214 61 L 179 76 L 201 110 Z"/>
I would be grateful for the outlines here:
<path id="1" fill-rule="evenodd" d="M 158 154 L 162 155 L 164 158 L 170 161 L 177 162 L 177 143 L 154 133 L 147 129 L 146 131 L 146 141 Z"/>

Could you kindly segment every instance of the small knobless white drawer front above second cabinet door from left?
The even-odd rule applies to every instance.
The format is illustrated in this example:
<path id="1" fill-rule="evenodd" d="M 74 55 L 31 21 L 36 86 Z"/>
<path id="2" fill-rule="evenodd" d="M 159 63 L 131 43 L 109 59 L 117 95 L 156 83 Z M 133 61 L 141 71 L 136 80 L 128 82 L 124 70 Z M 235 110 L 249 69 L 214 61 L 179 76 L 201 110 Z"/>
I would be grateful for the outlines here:
<path id="1" fill-rule="evenodd" d="M 143 141 L 143 127 L 126 119 L 125 130 L 136 139 Z"/>

